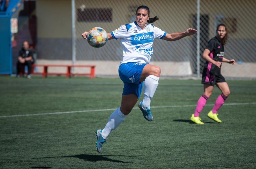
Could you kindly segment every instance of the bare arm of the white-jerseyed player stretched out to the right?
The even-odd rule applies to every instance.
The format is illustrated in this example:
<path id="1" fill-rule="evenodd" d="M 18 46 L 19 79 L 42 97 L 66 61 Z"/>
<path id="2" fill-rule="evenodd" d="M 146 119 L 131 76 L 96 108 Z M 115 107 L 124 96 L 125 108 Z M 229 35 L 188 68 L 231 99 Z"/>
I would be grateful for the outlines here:
<path id="1" fill-rule="evenodd" d="M 166 41 L 177 41 L 180 40 L 183 37 L 191 36 L 193 34 L 197 33 L 197 30 L 193 28 L 189 28 L 184 32 L 176 32 L 176 33 L 167 33 L 165 37 L 163 37 Z"/>

